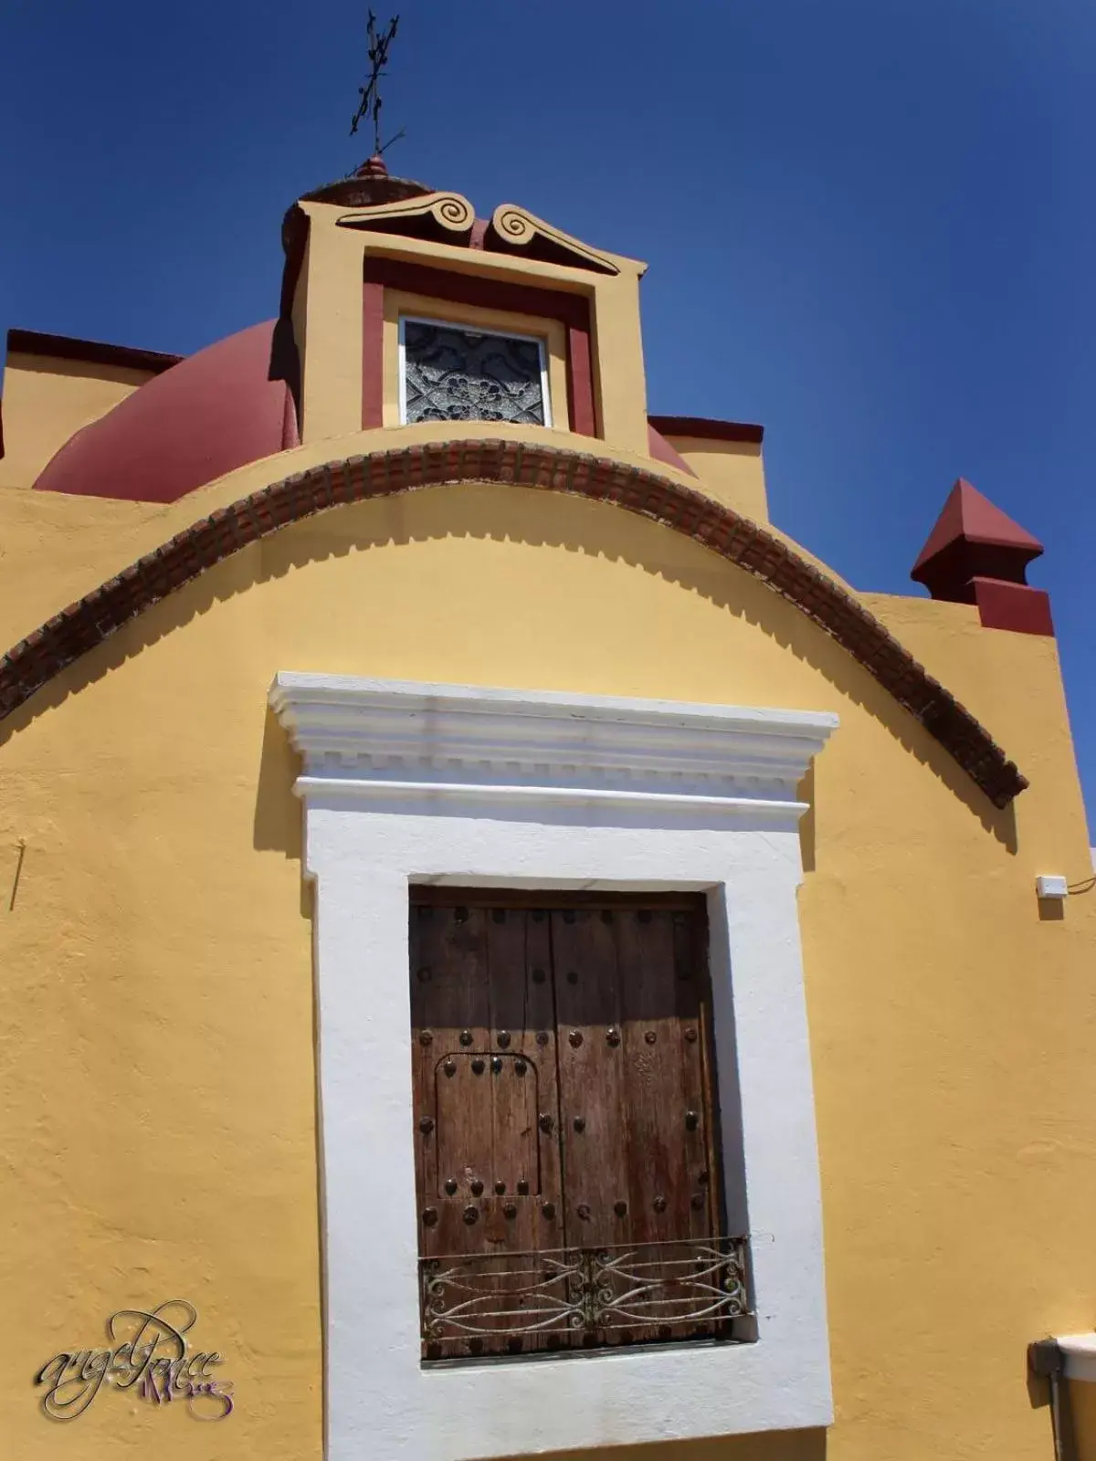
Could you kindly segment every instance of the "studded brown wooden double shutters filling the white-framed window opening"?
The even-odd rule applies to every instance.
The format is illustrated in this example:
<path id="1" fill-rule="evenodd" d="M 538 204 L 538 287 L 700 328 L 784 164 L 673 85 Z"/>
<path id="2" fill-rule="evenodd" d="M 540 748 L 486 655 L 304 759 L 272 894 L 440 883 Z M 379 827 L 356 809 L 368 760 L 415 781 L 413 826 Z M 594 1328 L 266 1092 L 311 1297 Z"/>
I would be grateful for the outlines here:
<path id="1" fill-rule="evenodd" d="M 411 986 L 425 1357 L 745 1311 L 703 900 L 412 890 Z"/>

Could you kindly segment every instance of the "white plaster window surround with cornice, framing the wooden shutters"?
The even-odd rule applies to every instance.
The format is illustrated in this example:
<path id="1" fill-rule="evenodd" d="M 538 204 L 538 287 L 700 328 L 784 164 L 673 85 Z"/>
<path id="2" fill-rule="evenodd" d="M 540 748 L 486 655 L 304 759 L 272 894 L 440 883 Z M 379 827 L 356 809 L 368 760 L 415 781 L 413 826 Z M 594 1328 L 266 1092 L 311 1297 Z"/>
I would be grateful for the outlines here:
<path id="1" fill-rule="evenodd" d="M 317 887 L 327 1461 L 829 1424 L 795 785 L 836 717 L 288 674 L 270 703 Z M 421 1366 L 408 887 L 433 881 L 707 891 L 757 1343 Z"/>

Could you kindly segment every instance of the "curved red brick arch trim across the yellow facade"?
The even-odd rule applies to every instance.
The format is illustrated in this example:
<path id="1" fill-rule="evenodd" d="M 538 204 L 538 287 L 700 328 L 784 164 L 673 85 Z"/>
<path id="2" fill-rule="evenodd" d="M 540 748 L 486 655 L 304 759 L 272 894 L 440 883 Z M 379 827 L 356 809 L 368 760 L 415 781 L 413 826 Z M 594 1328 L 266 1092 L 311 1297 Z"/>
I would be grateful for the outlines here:
<path id="1" fill-rule="evenodd" d="M 418 487 L 504 482 L 570 492 L 650 517 L 738 564 L 859 660 L 995 806 L 1027 786 L 975 717 L 826 574 L 738 513 L 640 468 L 514 441 L 444 441 L 298 472 L 203 517 L 69 605 L 0 659 L 0 719 L 137 614 L 240 548 L 313 513 Z"/>

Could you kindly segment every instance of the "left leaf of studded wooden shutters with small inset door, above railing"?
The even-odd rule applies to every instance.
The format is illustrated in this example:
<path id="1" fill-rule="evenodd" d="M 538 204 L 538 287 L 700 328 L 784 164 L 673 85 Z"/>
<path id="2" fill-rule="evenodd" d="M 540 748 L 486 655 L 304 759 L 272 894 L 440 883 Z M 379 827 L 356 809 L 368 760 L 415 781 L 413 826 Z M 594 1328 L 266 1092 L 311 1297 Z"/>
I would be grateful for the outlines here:
<path id="1" fill-rule="evenodd" d="M 419 1254 L 564 1246 L 544 910 L 411 909 Z"/>

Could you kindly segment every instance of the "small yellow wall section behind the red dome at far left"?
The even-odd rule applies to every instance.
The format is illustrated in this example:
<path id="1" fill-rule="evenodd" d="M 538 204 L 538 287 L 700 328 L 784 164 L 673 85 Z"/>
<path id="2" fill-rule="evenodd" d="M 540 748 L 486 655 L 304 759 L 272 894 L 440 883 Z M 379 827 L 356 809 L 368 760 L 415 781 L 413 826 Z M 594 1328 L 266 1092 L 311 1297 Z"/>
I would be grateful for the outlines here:
<path id="1" fill-rule="evenodd" d="M 151 378 L 149 371 L 127 365 L 9 355 L 3 377 L 0 488 L 32 487 L 75 431 L 105 416 Z"/>

